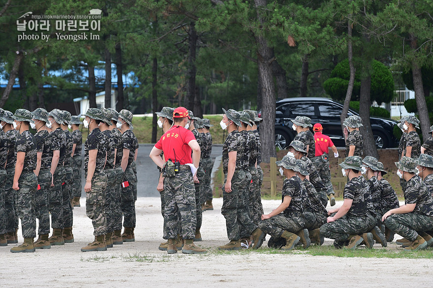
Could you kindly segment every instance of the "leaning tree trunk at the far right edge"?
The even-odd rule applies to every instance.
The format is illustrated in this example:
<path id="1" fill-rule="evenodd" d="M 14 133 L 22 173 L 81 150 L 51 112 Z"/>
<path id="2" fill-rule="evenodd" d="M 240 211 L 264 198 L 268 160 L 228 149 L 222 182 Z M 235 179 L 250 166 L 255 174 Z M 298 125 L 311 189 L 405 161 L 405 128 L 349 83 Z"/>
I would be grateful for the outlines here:
<path id="1" fill-rule="evenodd" d="M 417 49 L 417 39 L 414 35 L 410 35 L 410 48 Z M 423 139 L 428 139 L 431 136 L 429 111 L 427 110 L 426 97 L 423 89 L 423 77 L 421 67 L 417 63 L 416 58 L 412 58 L 412 78 L 413 89 L 415 90 L 416 107 L 418 108 L 418 116 L 420 120 L 421 133 Z M 427 95 L 428 96 L 428 95 Z"/>

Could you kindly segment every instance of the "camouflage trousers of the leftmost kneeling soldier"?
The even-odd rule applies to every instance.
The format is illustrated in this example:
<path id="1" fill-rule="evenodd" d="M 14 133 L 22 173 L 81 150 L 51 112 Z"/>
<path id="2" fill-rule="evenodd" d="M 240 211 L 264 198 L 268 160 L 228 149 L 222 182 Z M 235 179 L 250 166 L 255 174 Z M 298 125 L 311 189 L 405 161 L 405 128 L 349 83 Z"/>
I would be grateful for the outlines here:
<path id="1" fill-rule="evenodd" d="M 266 234 L 279 237 L 284 230 L 297 233 L 304 228 L 304 221 L 300 216 L 286 216 L 280 213 L 274 217 L 259 222 L 259 228 Z"/>

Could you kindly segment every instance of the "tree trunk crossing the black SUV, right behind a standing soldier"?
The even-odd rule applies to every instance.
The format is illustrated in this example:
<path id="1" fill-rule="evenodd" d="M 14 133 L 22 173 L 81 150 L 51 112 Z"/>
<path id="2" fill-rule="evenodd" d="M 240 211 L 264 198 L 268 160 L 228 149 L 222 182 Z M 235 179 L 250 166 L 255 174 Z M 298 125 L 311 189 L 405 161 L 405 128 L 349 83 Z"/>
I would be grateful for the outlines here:
<path id="1" fill-rule="evenodd" d="M 359 116 L 362 118 L 363 126 L 360 128 L 364 141 L 364 154 L 379 158 L 376 144 L 373 138 L 370 124 L 370 106 L 371 106 L 371 76 L 361 79 L 361 91 L 359 95 Z"/>

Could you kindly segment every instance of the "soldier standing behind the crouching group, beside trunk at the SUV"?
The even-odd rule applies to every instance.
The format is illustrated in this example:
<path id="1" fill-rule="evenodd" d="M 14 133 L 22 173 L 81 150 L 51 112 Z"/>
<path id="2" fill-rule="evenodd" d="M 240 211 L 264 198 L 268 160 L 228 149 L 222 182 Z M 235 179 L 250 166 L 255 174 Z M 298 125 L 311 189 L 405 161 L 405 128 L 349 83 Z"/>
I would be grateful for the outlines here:
<path id="1" fill-rule="evenodd" d="M 363 126 L 358 116 L 349 116 L 343 121 L 344 137 L 346 139 L 346 153 L 345 157 L 358 156 L 362 157 L 364 154 L 363 150 L 363 139 L 359 127 Z"/>

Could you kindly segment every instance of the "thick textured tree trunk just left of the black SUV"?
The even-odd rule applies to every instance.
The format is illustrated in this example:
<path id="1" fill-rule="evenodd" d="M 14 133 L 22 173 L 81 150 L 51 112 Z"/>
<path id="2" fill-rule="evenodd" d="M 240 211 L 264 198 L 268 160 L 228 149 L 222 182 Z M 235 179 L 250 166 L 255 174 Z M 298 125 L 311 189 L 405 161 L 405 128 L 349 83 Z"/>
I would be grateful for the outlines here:
<path id="1" fill-rule="evenodd" d="M 261 8 L 266 6 L 266 0 L 254 0 L 257 7 L 257 19 L 264 23 Z M 272 49 L 261 35 L 255 35 L 257 44 L 257 64 L 262 85 L 262 118 L 260 124 L 260 142 L 262 144 L 262 162 L 269 163 L 270 157 L 276 157 L 275 149 L 275 87 L 271 70 Z"/>

